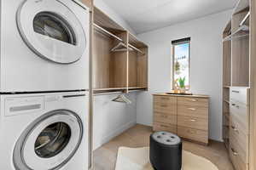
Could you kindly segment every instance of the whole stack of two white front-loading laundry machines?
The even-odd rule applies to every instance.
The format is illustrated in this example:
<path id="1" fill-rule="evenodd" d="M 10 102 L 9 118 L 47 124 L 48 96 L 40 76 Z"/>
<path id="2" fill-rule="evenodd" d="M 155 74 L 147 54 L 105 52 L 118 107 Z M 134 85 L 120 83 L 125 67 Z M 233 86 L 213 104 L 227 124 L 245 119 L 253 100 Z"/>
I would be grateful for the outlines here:
<path id="1" fill-rule="evenodd" d="M 89 8 L 1 0 L 0 169 L 88 169 Z"/>

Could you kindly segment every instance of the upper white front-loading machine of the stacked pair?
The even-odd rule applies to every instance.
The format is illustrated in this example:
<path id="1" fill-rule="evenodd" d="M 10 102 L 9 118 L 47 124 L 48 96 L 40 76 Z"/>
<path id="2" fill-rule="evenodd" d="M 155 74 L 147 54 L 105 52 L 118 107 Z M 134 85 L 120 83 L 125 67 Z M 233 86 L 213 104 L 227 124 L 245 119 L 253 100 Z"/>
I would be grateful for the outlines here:
<path id="1" fill-rule="evenodd" d="M 0 3 L 0 92 L 89 88 L 88 8 L 72 0 Z"/>

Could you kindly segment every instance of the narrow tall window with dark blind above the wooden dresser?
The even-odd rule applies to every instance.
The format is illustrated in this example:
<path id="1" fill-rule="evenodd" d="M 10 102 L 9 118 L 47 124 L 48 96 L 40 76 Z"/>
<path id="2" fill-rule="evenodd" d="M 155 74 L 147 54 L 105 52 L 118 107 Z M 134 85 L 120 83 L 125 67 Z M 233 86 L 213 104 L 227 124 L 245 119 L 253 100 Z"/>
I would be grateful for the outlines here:
<path id="1" fill-rule="evenodd" d="M 189 90 L 190 37 L 172 41 L 172 88 Z"/>

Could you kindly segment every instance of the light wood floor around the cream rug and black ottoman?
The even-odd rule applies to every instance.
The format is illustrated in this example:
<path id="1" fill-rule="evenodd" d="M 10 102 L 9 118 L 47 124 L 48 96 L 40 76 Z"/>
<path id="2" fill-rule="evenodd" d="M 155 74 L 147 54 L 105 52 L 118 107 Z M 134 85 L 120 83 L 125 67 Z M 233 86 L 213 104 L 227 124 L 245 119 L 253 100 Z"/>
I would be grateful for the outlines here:
<path id="1" fill-rule="evenodd" d="M 136 125 L 112 139 L 108 144 L 104 144 L 101 148 L 94 151 L 94 169 L 114 170 L 119 146 L 148 146 L 151 133 L 152 127 Z M 234 170 L 223 143 L 210 141 L 210 144 L 206 146 L 183 141 L 183 150 L 188 150 L 197 156 L 207 158 L 212 161 L 219 170 Z"/>

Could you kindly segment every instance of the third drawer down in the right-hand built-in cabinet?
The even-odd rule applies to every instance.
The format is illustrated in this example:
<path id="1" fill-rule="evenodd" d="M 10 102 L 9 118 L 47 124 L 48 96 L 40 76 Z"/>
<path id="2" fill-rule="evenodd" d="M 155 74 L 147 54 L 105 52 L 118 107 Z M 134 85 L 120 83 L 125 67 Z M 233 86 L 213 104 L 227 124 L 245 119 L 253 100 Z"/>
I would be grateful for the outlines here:
<path id="1" fill-rule="evenodd" d="M 240 127 L 234 117 L 230 117 L 230 139 L 236 140 L 236 143 L 239 144 L 241 150 L 248 153 L 248 134 L 245 133 L 245 129 Z"/>

